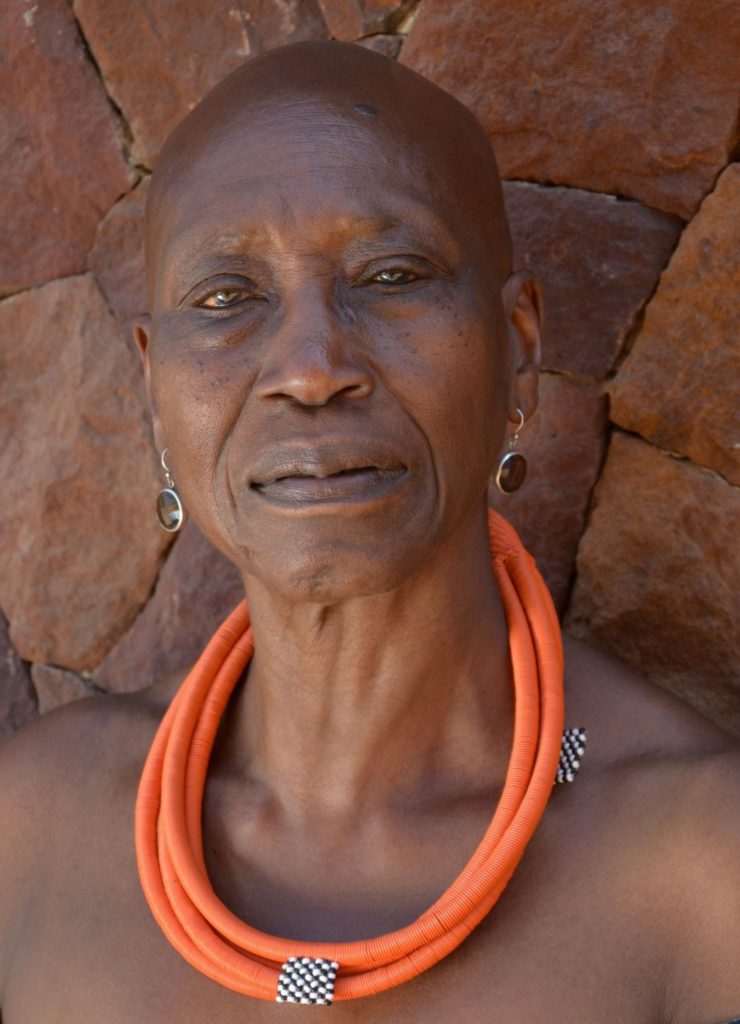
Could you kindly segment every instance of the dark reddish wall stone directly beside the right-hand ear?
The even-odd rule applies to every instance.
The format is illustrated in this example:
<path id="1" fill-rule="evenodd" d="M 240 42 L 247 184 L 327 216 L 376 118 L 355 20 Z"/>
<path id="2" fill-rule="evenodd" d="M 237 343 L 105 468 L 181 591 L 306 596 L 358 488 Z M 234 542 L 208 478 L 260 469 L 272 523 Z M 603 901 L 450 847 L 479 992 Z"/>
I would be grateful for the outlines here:
<path id="1" fill-rule="evenodd" d="M 683 222 L 579 188 L 508 181 L 504 194 L 515 266 L 542 285 L 545 369 L 604 378 Z"/>

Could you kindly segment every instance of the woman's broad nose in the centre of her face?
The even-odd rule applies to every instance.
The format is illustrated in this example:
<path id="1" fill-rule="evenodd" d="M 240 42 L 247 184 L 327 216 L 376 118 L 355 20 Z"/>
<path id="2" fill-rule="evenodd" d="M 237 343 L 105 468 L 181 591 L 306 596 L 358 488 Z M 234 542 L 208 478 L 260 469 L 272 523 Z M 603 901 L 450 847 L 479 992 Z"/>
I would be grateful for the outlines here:
<path id="1" fill-rule="evenodd" d="M 375 378 L 352 335 L 325 299 L 302 302 L 286 313 L 270 340 L 257 394 L 308 407 L 340 396 L 367 397 Z"/>

